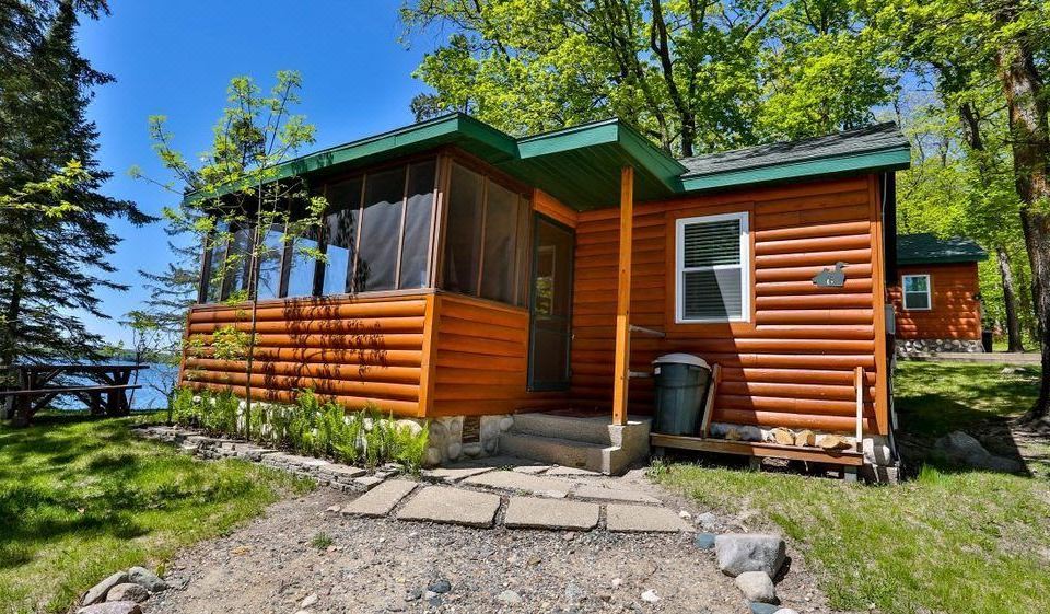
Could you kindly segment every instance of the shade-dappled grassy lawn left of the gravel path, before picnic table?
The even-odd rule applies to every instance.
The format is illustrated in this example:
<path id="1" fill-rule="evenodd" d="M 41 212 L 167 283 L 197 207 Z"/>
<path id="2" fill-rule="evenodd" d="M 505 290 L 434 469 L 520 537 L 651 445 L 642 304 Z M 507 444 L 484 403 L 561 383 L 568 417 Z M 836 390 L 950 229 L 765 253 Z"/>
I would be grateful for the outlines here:
<path id="1" fill-rule="evenodd" d="M 228 531 L 306 483 L 201 462 L 129 432 L 132 419 L 0 426 L 0 612 L 63 612 L 131 565 Z"/>

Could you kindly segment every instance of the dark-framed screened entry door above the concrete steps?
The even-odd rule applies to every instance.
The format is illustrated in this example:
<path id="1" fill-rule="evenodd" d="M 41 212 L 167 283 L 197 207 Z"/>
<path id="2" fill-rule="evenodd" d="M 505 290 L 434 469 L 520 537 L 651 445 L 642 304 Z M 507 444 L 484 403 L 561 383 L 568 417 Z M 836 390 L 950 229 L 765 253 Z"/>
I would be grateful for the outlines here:
<path id="1" fill-rule="evenodd" d="M 528 389 L 568 390 L 575 235 L 572 229 L 542 216 L 536 216 L 535 229 Z"/>

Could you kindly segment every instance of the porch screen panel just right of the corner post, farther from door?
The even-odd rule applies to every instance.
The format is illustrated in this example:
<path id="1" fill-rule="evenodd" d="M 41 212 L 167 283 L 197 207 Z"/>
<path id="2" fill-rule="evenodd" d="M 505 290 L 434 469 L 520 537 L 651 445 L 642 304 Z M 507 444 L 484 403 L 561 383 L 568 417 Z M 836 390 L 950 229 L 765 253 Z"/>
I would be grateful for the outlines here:
<path id="1" fill-rule="evenodd" d="M 448 215 L 445 230 L 445 264 L 442 287 L 463 294 L 477 294 L 481 257 L 481 205 L 485 177 L 458 164 L 452 165 Z"/>

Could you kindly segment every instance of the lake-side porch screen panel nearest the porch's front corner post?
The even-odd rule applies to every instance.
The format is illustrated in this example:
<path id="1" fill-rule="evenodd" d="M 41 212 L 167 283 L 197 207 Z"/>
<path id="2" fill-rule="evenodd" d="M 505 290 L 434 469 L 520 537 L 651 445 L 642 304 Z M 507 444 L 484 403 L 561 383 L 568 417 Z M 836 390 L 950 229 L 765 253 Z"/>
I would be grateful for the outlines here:
<path id="1" fill-rule="evenodd" d="M 430 281 L 430 228 L 433 218 L 435 161 L 408 169 L 405 240 L 398 288 L 424 288 Z"/>

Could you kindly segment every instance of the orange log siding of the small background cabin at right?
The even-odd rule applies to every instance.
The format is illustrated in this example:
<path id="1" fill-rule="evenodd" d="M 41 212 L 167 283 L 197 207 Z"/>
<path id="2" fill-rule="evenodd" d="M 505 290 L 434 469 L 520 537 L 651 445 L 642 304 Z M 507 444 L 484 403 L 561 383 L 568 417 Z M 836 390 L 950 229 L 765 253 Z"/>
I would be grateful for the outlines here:
<path id="1" fill-rule="evenodd" d="M 906 310 L 900 276 L 930 276 L 930 310 Z M 980 339 L 981 310 L 977 263 L 907 265 L 898 267 L 897 283 L 889 289 L 897 312 L 899 339 Z"/>

